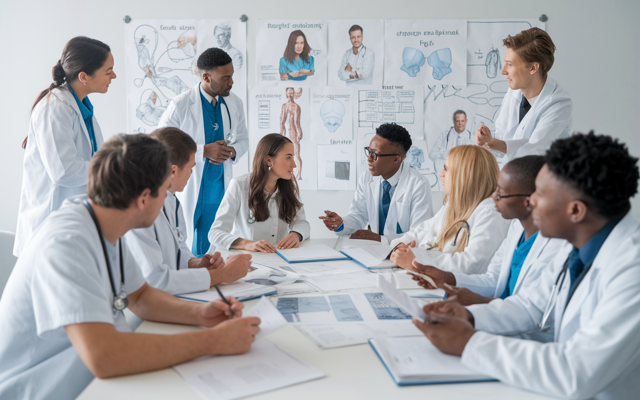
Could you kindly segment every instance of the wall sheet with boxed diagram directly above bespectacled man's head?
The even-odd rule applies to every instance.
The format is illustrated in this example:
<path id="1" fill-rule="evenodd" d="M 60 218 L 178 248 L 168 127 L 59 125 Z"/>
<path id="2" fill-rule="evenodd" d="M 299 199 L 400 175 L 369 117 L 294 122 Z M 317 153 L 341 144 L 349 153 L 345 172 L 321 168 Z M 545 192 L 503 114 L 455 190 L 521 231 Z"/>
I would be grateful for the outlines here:
<path id="1" fill-rule="evenodd" d="M 381 89 L 358 88 L 358 139 L 381 124 L 402 125 L 412 139 L 424 138 L 424 86 L 391 85 Z"/>

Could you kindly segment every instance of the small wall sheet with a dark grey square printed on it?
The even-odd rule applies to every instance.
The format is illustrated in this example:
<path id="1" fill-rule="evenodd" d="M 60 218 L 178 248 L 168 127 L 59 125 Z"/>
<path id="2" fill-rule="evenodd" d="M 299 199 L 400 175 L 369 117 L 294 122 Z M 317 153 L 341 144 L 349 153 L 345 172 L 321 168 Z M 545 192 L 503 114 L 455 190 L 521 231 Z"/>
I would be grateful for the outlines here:
<path id="1" fill-rule="evenodd" d="M 317 145 L 317 175 L 319 190 L 355 190 L 355 145 Z"/>

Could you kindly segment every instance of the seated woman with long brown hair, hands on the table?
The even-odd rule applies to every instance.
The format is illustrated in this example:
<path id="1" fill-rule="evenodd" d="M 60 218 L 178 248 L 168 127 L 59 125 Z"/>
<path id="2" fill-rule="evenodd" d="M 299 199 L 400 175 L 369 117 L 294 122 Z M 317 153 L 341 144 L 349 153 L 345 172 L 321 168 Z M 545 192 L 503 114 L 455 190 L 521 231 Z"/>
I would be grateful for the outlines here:
<path id="1" fill-rule="evenodd" d="M 209 230 L 216 247 L 275 253 L 308 239 L 310 225 L 300 202 L 291 140 L 264 136 L 255 149 L 252 172 L 231 180 Z"/>

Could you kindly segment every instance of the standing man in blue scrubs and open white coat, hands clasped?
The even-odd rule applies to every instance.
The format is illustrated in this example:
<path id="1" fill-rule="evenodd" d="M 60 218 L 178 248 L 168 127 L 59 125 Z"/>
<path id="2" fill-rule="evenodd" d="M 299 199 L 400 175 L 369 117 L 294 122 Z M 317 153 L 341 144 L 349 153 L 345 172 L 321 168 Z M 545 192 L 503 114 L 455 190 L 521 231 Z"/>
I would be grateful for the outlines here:
<path id="1" fill-rule="evenodd" d="M 198 70 L 201 82 L 171 100 L 158 127 L 179 128 L 198 145 L 194 173 L 178 198 L 185 213 L 187 243 L 193 243 L 193 255 L 202 257 L 209 250 L 209 229 L 233 177 L 232 164 L 248 150 L 249 132 L 242 100 L 231 93 L 231 57 L 221 49 L 207 49 L 198 58 Z"/>

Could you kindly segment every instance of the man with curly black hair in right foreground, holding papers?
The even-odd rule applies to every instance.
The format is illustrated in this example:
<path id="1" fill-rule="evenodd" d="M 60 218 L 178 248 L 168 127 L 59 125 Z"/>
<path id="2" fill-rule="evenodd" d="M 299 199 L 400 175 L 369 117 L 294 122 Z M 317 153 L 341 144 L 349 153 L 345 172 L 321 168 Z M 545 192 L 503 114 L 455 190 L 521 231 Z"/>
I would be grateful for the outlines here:
<path id="1" fill-rule="evenodd" d="M 593 132 L 557 140 L 546 157 L 531 196 L 533 220 L 540 234 L 567 243 L 538 292 L 493 312 L 432 303 L 426 322 L 414 322 L 441 351 L 510 385 L 570 399 L 636 398 L 640 221 L 629 199 L 638 159 Z M 490 324 L 518 327 L 504 335 L 554 328 L 554 342 L 483 332 Z"/>

